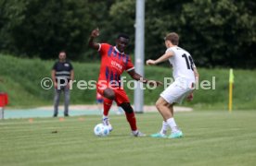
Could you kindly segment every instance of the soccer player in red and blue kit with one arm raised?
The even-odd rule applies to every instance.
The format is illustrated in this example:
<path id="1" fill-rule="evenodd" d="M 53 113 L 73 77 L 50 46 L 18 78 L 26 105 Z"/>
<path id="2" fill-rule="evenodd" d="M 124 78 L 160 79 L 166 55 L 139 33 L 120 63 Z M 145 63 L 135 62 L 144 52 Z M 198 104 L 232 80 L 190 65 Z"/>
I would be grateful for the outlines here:
<path id="1" fill-rule="evenodd" d="M 120 34 L 116 40 L 116 45 L 112 46 L 109 43 L 96 43 L 94 39 L 99 35 L 99 30 L 93 30 L 89 39 L 89 46 L 96 49 L 101 56 L 100 73 L 96 85 L 97 92 L 104 97 L 104 112 L 102 122 L 104 125 L 109 124 L 109 109 L 112 105 L 112 101 L 116 101 L 118 106 L 121 106 L 125 112 L 126 119 L 130 124 L 132 133 L 134 136 L 145 136 L 138 131 L 136 126 L 136 119 L 134 115 L 134 109 L 132 108 L 129 98 L 121 86 L 121 75 L 123 71 L 135 80 L 140 80 L 143 83 L 147 83 L 149 80 L 140 76 L 134 70 L 134 64 L 130 56 L 124 53 L 124 49 L 127 47 L 129 37 L 125 34 Z M 159 81 L 150 80 L 148 83 L 154 85 L 161 85 Z"/>

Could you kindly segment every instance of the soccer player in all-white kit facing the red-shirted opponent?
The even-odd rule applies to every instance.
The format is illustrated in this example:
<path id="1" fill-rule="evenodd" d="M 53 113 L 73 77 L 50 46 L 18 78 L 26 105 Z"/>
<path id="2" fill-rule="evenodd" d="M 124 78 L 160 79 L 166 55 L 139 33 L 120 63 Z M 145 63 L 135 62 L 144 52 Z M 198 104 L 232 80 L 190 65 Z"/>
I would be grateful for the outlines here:
<path id="1" fill-rule="evenodd" d="M 174 103 L 181 103 L 187 97 L 188 101 L 193 99 L 193 90 L 196 80 L 198 80 L 198 70 L 193 62 L 192 56 L 186 50 L 178 47 L 179 36 L 177 33 L 169 33 L 165 37 L 166 52 L 157 60 L 147 60 L 147 65 L 156 65 L 169 60 L 173 65 L 174 82 L 167 89 L 160 93 L 160 98 L 156 102 L 156 107 L 163 117 L 160 132 L 151 135 L 152 137 L 182 137 L 183 133 L 176 125 L 173 118 Z M 172 133 L 167 136 L 168 128 Z"/>

